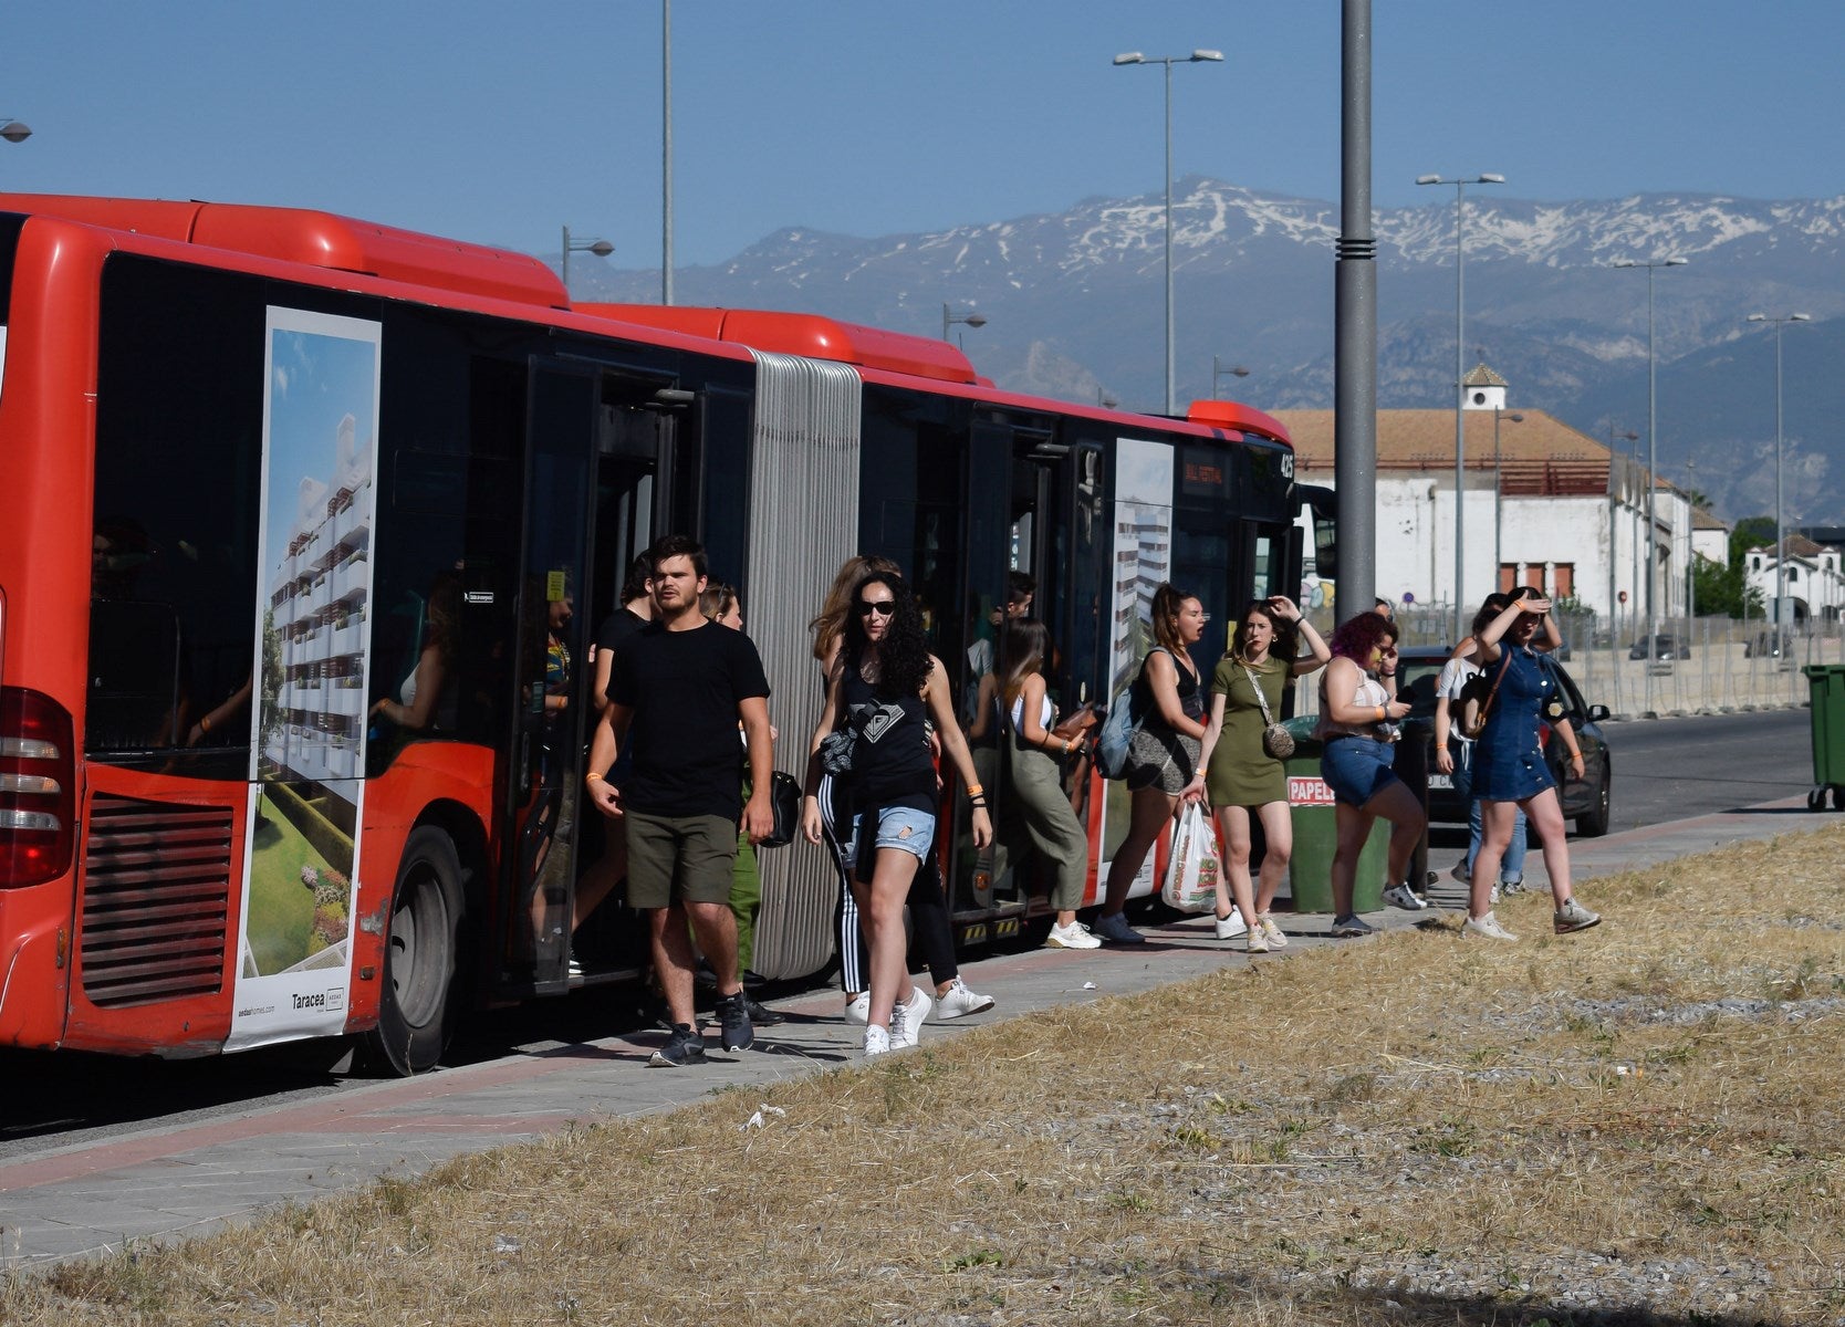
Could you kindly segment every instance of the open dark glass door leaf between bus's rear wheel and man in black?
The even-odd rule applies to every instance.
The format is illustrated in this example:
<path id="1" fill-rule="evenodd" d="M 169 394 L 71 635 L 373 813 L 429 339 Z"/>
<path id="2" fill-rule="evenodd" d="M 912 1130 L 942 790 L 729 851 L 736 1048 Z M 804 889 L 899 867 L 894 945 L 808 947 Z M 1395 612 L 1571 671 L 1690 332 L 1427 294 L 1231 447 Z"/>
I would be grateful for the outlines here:
<path id="1" fill-rule="evenodd" d="M 565 989 L 576 879 L 590 628 L 590 504 L 600 373 L 535 360 L 526 413 L 526 500 L 498 890 L 502 993 Z M 577 596 L 585 615 L 577 616 Z"/>

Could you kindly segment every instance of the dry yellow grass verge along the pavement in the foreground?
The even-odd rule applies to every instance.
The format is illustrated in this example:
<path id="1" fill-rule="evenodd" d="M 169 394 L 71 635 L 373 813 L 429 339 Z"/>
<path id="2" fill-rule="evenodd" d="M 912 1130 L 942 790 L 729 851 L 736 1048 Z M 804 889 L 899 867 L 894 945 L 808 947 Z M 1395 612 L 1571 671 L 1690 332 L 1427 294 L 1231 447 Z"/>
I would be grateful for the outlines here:
<path id="1" fill-rule="evenodd" d="M 1845 832 L 0 1283 L 7 1323 L 1845 1320 Z M 1542 938 L 1539 938 L 1542 936 Z M 762 1128 L 740 1122 L 768 1100 Z"/>

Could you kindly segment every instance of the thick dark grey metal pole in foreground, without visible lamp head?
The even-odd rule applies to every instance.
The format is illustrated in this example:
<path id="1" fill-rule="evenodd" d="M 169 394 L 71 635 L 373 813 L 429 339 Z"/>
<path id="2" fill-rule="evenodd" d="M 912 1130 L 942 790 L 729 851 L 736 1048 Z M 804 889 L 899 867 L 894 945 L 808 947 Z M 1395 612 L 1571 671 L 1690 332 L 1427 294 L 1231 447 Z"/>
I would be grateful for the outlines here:
<path id="1" fill-rule="evenodd" d="M 1371 234 L 1371 0 L 1343 0 L 1339 24 L 1339 240 L 1334 264 L 1332 484 L 1338 596 L 1376 592 L 1378 268 Z"/>

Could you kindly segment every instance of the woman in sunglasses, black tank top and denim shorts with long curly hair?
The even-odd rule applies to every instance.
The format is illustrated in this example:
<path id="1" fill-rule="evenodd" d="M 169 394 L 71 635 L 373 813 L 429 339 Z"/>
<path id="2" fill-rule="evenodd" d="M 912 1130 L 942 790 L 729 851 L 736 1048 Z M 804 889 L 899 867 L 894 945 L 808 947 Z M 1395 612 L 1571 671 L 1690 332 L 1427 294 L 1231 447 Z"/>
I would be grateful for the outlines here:
<path id="1" fill-rule="evenodd" d="M 828 672 L 827 705 L 808 747 L 801 814 L 808 842 L 819 843 L 819 747 L 836 729 L 851 729 L 852 821 L 841 858 L 852 873 L 871 950 L 867 1056 L 915 1045 L 934 1004 L 928 991 L 910 986 L 904 934 L 904 901 L 935 842 L 935 762 L 926 720 L 934 720 L 943 755 L 967 784 L 974 847 L 985 847 L 993 842 L 993 821 L 954 716 L 946 670 L 928 652 L 922 613 L 902 576 L 871 572 L 852 592 L 845 640 Z"/>

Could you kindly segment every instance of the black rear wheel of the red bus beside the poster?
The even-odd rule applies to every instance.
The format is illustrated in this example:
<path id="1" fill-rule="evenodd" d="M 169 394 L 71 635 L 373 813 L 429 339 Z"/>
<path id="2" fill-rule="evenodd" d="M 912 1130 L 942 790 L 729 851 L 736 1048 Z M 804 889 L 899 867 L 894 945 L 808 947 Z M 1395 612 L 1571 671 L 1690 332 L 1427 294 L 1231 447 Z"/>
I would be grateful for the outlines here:
<path id="1" fill-rule="evenodd" d="M 454 840 L 423 825 L 404 843 L 391 895 L 378 1026 L 369 1058 L 399 1076 L 435 1069 L 461 995 L 461 858 Z"/>

